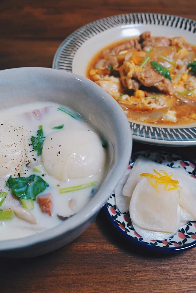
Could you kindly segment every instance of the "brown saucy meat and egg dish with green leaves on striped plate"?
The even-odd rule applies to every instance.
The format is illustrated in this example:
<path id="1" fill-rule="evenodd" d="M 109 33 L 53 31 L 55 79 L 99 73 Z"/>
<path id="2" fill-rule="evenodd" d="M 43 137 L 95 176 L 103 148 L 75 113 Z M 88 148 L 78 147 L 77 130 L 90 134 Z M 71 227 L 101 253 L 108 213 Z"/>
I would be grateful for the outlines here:
<path id="1" fill-rule="evenodd" d="M 105 89 L 129 121 L 196 122 L 196 47 L 184 37 L 123 40 L 90 61 L 87 77 Z"/>

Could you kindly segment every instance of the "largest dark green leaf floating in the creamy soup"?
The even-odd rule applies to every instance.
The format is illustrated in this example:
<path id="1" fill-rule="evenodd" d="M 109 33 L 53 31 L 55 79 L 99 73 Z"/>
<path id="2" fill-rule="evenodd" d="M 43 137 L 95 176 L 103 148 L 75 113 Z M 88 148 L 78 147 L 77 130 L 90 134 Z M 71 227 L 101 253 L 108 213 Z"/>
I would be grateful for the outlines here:
<path id="1" fill-rule="evenodd" d="M 35 200 L 38 194 L 49 187 L 48 183 L 37 175 L 17 178 L 10 176 L 6 182 L 6 186 L 8 186 L 17 197 L 32 200 Z"/>

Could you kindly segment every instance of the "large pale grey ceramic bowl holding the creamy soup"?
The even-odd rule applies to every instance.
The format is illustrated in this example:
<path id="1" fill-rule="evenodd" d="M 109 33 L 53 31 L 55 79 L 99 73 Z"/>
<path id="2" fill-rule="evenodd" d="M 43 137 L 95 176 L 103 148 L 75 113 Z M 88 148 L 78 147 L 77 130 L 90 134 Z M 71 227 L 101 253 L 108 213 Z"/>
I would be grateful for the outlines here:
<path id="1" fill-rule="evenodd" d="M 16 240 L 0 241 L 0 255 L 32 257 L 73 241 L 96 219 L 124 174 L 132 151 L 128 120 L 115 100 L 94 82 L 66 71 L 26 67 L 0 71 L 1 108 L 55 101 L 80 113 L 108 140 L 108 165 L 100 189 L 78 214 L 59 226 Z"/>

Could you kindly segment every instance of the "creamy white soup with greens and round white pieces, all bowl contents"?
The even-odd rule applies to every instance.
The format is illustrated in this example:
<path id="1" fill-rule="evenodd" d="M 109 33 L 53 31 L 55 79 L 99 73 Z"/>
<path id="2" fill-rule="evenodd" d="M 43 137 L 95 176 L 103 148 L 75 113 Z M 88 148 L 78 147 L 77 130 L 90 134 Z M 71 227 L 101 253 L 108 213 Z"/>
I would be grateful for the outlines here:
<path id="1" fill-rule="evenodd" d="M 82 209 L 106 164 L 93 128 L 56 103 L 13 107 L 0 117 L 0 240 L 50 229 Z"/>

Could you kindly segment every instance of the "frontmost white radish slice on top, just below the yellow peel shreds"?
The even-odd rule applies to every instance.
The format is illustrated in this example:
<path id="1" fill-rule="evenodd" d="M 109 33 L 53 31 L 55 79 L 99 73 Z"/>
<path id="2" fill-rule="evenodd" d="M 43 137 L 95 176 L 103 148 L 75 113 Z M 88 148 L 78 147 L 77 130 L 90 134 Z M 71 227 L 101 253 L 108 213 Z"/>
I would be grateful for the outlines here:
<path id="1" fill-rule="evenodd" d="M 178 189 L 165 190 L 159 184 L 158 191 L 144 177 L 137 184 L 130 201 L 131 220 L 144 229 L 175 233 L 178 229 Z"/>

